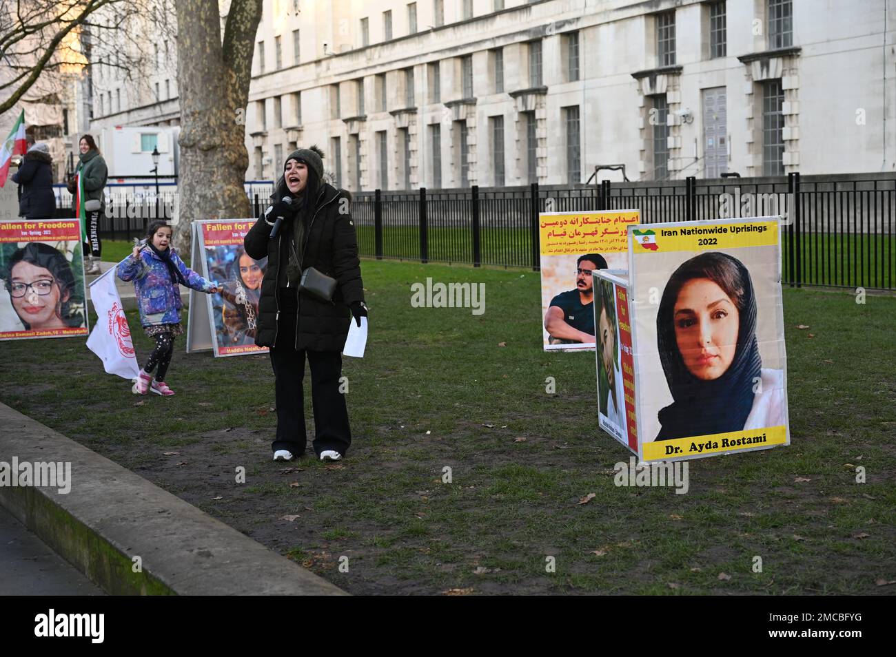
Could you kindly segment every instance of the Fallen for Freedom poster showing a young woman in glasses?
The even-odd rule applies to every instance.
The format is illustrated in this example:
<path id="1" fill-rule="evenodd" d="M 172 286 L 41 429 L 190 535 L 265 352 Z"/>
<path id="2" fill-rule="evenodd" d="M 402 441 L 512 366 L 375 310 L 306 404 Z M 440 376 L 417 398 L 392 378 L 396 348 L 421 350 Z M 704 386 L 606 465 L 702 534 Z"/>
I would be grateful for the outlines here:
<path id="1" fill-rule="evenodd" d="M 78 219 L 0 222 L 0 340 L 86 336 Z"/>

